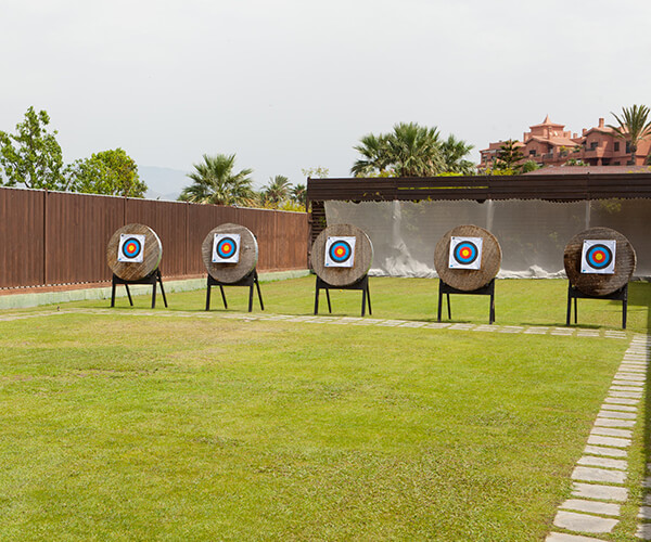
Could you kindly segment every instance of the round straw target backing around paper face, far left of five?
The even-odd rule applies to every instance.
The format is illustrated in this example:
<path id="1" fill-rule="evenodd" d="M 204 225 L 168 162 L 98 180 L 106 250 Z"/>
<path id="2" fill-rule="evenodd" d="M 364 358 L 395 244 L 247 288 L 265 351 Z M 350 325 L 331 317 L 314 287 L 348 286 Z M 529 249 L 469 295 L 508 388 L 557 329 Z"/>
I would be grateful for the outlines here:
<path id="1" fill-rule="evenodd" d="M 142 261 L 118 261 L 122 234 L 144 235 Z M 106 246 L 106 261 L 116 276 L 123 281 L 139 281 L 158 269 L 163 257 L 163 245 L 156 232 L 149 225 L 127 224 L 123 225 L 112 235 Z"/>

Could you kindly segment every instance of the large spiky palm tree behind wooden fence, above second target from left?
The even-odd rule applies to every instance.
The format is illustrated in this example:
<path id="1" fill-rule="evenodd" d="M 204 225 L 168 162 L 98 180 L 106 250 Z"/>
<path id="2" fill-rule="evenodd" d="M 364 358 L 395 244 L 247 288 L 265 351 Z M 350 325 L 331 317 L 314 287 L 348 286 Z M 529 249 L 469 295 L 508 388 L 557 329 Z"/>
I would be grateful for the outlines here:
<path id="1" fill-rule="evenodd" d="M 253 169 L 233 172 L 235 155 L 203 155 L 203 164 L 193 164 L 195 171 L 188 177 L 194 181 L 179 196 L 182 202 L 217 205 L 247 205 L 254 197 Z"/>

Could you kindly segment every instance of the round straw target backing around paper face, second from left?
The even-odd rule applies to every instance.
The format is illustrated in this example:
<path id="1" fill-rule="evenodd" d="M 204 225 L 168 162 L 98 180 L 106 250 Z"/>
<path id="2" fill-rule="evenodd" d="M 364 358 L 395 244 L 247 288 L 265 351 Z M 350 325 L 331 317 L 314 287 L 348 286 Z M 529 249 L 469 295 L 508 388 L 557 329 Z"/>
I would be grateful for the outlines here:
<path id="1" fill-rule="evenodd" d="M 216 234 L 240 235 L 240 254 L 238 262 L 225 263 L 213 261 L 213 243 Z M 251 230 L 239 224 L 221 224 L 210 230 L 201 245 L 201 255 L 208 274 L 218 282 L 233 284 L 251 273 L 258 259 L 258 246 L 255 235 Z"/>

